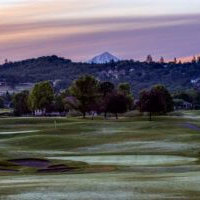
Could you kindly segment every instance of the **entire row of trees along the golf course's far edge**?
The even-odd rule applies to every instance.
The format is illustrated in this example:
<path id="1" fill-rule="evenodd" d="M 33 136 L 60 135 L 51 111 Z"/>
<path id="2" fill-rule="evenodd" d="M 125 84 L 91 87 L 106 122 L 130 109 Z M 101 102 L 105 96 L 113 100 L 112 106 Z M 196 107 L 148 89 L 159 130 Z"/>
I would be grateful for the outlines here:
<path id="1" fill-rule="evenodd" d="M 95 113 L 112 113 L 118 118 L 119 113 L 138 108 L 141 112 L 166 114 L 173 110 L 173 99 L 162 85 L 153 86 L 140 93 L 139 101 L 134 104 L 131 86 L 120 83 L 115 86 L 111 82 L 100 82 L 90 75 L 76 79 L 69 88 L 56 93 L 53 85 L 48 82 L 35 84 L 32 91 L 23 91 L 14 95 L 13 106 L 15 115 L 24 115 L 40 111 L 43 115 L 49 112 L 68 112 L 70 109 L 87 113 L 92 117 Z"/>

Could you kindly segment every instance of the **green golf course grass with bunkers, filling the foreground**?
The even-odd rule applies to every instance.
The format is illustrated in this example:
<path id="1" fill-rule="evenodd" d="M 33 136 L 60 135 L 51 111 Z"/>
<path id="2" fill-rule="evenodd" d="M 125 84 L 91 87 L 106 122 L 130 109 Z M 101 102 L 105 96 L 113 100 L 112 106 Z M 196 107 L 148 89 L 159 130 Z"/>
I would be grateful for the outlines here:
<path id="1" fill-rule="evenodd" d="M 199 111 L 0 119 L 0 199 L 200 199 Z"/>

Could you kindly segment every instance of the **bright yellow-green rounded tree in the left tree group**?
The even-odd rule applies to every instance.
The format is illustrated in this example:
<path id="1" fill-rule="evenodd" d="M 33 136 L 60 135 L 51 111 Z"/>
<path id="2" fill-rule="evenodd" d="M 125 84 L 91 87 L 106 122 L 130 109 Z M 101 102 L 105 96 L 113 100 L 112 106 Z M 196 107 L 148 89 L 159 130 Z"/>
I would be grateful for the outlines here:
<path id="1" fill-rule="evenodd" d="M 35 84 L 29 95 L 29 102 L 32 110 L 46 112 L 54 99 L 54 91 L 49 81 Z"/>

